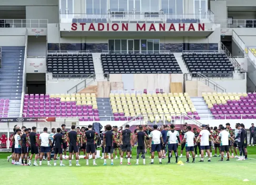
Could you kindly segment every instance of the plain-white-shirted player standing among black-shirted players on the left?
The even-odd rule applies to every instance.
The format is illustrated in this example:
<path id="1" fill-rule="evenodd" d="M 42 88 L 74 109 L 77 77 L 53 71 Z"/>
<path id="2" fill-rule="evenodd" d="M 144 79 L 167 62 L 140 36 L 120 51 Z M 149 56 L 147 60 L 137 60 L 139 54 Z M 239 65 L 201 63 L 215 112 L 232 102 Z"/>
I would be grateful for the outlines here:
<path id="1" fill-rule="evenodd" d="M 50 165 L 50 146 L 52 145 L 50 135 L 47 133 L 48 129 L 45 127 L 44 132 L 40 134 L 39 136 L 39 142 L 40 142 L 40 158 L 39 158 L 39 166 L 42 165 L 42 159 L 44 156 L 44 153 L 47 154 L 47 165 Z"/>

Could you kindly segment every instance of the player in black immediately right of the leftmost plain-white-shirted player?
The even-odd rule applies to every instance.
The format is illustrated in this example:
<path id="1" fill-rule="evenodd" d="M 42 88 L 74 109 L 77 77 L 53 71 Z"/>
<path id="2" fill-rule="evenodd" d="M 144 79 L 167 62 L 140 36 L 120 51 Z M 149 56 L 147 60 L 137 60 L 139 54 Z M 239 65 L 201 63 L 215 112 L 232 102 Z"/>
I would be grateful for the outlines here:
<path id="1" fill-rule="evenodd" d="M 56 166 L 56 159 L 57 159 L 57 155 L 59 154 L 59 166 L 65 166 L 62 163 L 62 145 L 63 145 L 63 139 L 64 139 L 64 135 L 60 133 L 61 129 L 58 128 L 57 129 L 57 134 L 55 134 L 53 136 L 53 146 L 54 146 L 54 166 Z"/>

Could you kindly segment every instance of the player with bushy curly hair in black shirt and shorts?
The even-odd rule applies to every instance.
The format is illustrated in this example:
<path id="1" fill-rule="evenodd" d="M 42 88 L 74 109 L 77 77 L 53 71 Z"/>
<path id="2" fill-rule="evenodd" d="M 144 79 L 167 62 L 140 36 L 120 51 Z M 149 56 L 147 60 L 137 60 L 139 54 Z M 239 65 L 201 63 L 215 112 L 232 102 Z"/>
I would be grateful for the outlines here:
<path id="1" fill-rule="evenodd" d="M 110 153 L 111 155 L 111 165 L 114 165 L 114 159 L 113 159 L 113 141 L 115 140 L 116 143 L 118 143 L 115 139 L 115 136 L 113 132 L 111 132 L 112 127 L 111 125 L 106 125 L 106 132 L 103 135 L 103 146 L 104 146 L 104 164 L 107 165 L 107 154 Z"/>

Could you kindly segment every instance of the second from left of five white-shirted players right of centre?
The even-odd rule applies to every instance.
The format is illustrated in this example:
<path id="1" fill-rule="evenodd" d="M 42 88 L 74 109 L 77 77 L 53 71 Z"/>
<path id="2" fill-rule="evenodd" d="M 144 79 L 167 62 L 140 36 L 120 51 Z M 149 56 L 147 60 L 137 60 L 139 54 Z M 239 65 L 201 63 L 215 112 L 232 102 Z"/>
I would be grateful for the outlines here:
<path id="1" fill-rule="evenodd" d="M 167 139 L 164 145 L 167 144 L 168 142 L 168 163 L 171 163 L 171 154 L 172 151 L 175 153 L 175 158 L 176 158 L 176 163 L 178 162 L 178 153 L 177 153 L 177 140 L 178 140 L 178 145 L 180 145 L 180 139 L 179 139 L 179 133 L 177 130 L 175 130 L 175 126 L 173 124 L 170 125 L 170 129 L 167 132 Z"/>

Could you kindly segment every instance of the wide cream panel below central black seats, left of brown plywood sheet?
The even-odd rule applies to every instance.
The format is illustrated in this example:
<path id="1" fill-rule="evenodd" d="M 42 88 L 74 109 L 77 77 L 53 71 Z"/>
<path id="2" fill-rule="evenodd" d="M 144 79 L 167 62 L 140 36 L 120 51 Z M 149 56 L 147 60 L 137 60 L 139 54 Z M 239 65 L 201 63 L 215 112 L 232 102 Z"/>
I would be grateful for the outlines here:
<path id="1" fill-rule="evenodd" d="M 163 89 L 170 92 L 170 74 L 134 74 L 134 90 Z"/>

